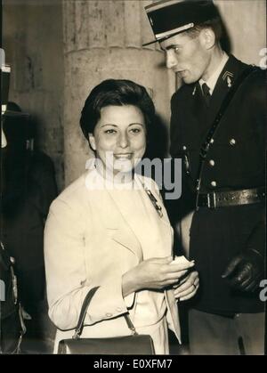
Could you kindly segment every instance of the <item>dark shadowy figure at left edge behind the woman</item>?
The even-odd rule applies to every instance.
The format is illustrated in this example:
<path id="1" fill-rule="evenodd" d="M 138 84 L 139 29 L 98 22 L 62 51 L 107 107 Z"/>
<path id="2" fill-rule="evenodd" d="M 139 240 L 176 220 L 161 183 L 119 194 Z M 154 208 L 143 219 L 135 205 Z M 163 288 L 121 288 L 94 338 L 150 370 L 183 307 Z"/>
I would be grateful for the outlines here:
<path id="1" fill-rule="evenodd" d="M 22 353 L 44 353 L 44 221 L 57 195 L 52 160 L 34 146 L 35 124 L 14 102 L 3 116 L 1 225 L 4 247 L 15 269 L 27 334 Z M 34 345 L 30 345 L 33 343 Z"/>

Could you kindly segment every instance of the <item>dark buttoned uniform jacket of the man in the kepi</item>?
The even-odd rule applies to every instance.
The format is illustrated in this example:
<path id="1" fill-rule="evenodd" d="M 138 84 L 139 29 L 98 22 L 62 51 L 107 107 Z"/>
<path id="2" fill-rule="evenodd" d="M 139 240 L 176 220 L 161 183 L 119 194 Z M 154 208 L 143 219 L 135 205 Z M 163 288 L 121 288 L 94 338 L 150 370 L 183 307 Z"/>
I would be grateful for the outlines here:
<path id="1" fill-rule="evenodd" d="M 232 55 L 206 108 L 200 85 L 183 85 L 172 98 L 171 156 L 182 158 L 182 197 L 176 220 L 194 209 L 199 150 L 223 98 L 247 65 Z M 265 72 L 257 69 L 239 87 L 208 151 L 200 192 L 235 191 L 264 185 L 266 123 Z M 261 312 L 258 294 L 232 290 L 221 275 L 234 255 L 247 248 L 264 253 L 262 203 L 199 208 L 190 227 L 190 257 L 196 260 L 200 288 L 192 301 L 198 310 L 219 314 Z"/>

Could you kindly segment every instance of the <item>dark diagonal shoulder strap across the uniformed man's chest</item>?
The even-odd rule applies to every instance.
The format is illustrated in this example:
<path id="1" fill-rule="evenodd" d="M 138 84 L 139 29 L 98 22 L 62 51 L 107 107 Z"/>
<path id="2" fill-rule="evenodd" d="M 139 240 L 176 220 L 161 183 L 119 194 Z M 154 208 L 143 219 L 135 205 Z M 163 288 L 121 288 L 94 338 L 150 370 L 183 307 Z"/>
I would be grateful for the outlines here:
<path id="1" fill-rule="evenodd" d="M 209 150 L 210 144 L 212 143 L 212 139 L 214 137 L 214 134 L 216 130 L 218 129 L 221 119 L 223 118 L 223 114 L 225 113 L 226 109 L 229 107 L 231 100 L 233 99 L 235 93 L 238 91 L 239 86 L 243 83 L 243 81 L 253 72 L 257 71 L 258 69 L 255 66 L 248 66 L 247 69 L 245 69 L 234 85 L 232 85 L 231 90 L 226 94 L 224 97 L 223 103 L 214 119 L 214 122 L 212 126 L 210 127 L 210 130 L 208 131 L 208 134 L 206 135 L 205 142 L 202 143 L 200 152 L 199 152 L 199 166 L 198 166 L 198 177 L 197 177 L 197 192 L 200 191 L 200 185 L 201 185 L 201 175 L 203 171 L 203 165 L 204 161 L 206 159 L 207 152 Z M 198 194 L 197 194 L 197 209 L 198 209 Z"/>

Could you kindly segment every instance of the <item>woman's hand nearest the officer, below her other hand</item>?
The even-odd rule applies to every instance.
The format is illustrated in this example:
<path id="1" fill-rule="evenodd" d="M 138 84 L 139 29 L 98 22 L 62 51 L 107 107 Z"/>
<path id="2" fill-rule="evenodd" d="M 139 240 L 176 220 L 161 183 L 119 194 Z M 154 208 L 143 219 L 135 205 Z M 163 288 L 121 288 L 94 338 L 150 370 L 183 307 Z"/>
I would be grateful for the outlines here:
<path id="1" fill-rule="evenodd" d="M 198 272 L 190 272 L 182 281 L 174 286 L 174 296 L 179 298 L 181 301 L 190 299 L 195 296 L 199 288 Z"/>

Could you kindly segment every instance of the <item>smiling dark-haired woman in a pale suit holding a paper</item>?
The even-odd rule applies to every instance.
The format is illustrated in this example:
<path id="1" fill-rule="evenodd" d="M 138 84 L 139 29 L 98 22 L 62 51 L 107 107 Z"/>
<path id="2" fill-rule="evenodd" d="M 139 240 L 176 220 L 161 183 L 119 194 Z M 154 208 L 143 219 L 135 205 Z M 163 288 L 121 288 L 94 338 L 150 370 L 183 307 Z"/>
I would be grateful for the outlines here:
<path id="1" fill-rule="evenodd" d="M 168 353 L 167 323 L 180 340 L 172 287 L 194 263 L 170 265 L 173 230 L 158 186 L 134 173 L 154 113 L 145 88 L 128 80 L 103 81 L 85 101 L 80 125 L 95 166 L 53 202 L 45 226 L 49 314 L 59 328 L 55 351 L 72 336 L 96 286 L 82 337 L 131 335 L 122 317 L 129 313 L 137 332 L 150 334 L 156 353 Z M 129 176 L 126 182 L 113 177 L 119 171 Z M 190 272 L 182 290 L 191 297 L 197 288 L 198 273 Z"/>

